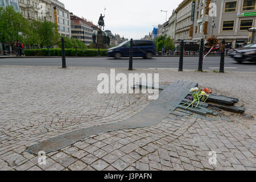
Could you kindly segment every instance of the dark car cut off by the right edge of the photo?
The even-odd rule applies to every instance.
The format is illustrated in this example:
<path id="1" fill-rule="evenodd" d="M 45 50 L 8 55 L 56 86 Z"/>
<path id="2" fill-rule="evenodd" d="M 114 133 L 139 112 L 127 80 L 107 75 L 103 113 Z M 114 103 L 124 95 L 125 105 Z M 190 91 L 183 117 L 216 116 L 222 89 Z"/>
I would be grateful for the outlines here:
<path id="1" fill-rule="evenodd" d="M 233 57 L 233 59 L 238 63 L 245 61 L 256 62 L 256 43 L 247 44 L 246 46 L 237 48 L 235 50 L 237 52 L 233 49 L 229 50 L 228 55 Z"/>

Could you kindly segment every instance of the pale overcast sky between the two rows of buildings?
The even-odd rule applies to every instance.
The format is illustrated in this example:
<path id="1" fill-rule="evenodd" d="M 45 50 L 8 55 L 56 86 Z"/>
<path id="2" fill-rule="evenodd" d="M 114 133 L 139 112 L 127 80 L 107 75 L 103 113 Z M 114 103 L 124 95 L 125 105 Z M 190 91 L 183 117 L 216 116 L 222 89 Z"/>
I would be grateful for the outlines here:
<path id="1" fill-rule="evenodd" d="M 149 34 L 153 25 L 162 24 L 171 16 L 182 0 L 59 0 L 65 9 L 77 16 L 83 16 L 98 23 L 100 14 L 105 11 L 105 30 L 125 38 L 141 39 Z"/>

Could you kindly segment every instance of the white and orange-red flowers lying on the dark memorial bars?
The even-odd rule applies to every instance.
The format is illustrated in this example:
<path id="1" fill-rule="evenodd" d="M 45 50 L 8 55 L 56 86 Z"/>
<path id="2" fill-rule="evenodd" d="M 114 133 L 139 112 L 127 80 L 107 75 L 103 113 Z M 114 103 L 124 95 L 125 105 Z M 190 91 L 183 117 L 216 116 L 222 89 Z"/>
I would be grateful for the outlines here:
<path id="1" fill-rule="evenodd" d="M 188 107 L 190 106 L 193 107 L 196 102 L 197 102 L 197 105 L 195 106 L 195 108 L 199 106 L 200 102 L 202 102 L 201 105 L 203 105 L 208 100 L 211 93 L 208 88 L 205 88 L 204 90 L 199 90 L 199 88 L 197 87 L 191 88 L 189 92 L 192 93 L 192 96 L 189 97 L 189 101 L 184 105 L 187 105 L 190 102 L 191 103 L 186 107 L 186 109 L 188 109 Z"/>

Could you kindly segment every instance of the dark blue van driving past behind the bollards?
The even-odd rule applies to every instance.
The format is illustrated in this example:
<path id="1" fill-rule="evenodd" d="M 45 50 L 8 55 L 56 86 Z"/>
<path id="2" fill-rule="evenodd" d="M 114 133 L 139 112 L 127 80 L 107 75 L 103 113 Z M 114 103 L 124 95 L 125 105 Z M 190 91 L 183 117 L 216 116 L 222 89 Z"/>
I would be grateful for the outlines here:
<path id="1" fill-rule="evenodd" d="M 155 55 L 155 43 L 152 40 L 134 40 L 133 57 L 144 57 L 151 59 Z M 117 47 L 108 49 L 108 56 L 120 59 L 121 57 L 129 57 L 130 40 L 119 44 Z"/>

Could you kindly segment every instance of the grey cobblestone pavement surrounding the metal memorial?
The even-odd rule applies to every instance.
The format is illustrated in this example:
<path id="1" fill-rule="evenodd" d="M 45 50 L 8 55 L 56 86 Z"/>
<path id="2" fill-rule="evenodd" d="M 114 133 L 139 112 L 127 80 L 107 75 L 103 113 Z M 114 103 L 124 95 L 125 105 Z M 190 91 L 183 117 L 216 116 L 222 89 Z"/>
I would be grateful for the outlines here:
<path id="1" fill-rule="evenodd" d="M 199 82 L 240 98 L 246 113 L 222 111 L 216 121 L 170 115 L 154 126 L 85 138 L 39 165 L 38 156 L 24 152 L 32 144 L 125 121 L 150 104 L 145 94 L 98 94 L 99 73 L 110 69 L 0 66 L 0 170 L 256 170 L 255 73 L 147 69 L 133 73 L 159 73 L 161 84 Z"/>

